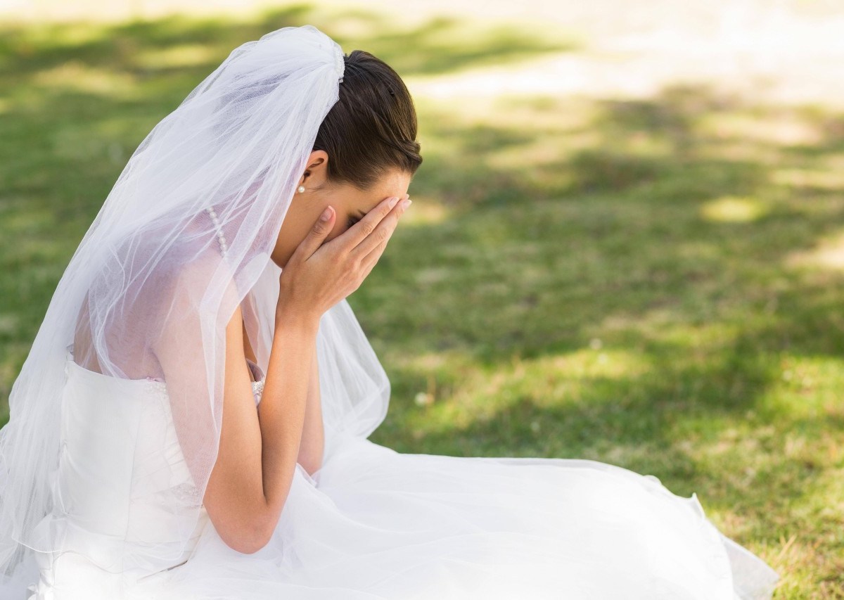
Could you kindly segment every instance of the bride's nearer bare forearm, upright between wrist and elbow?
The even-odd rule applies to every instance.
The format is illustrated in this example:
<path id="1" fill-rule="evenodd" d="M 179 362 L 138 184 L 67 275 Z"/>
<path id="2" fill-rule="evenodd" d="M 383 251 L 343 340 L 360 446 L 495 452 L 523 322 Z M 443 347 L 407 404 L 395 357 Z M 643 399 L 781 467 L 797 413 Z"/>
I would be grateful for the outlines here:
<path id="1" fill-rule="evenodd" d="M 266 530 L 284 508 L 299 456 L 319 320 L 279 312 L 267 376 L 258 403 Z"/>

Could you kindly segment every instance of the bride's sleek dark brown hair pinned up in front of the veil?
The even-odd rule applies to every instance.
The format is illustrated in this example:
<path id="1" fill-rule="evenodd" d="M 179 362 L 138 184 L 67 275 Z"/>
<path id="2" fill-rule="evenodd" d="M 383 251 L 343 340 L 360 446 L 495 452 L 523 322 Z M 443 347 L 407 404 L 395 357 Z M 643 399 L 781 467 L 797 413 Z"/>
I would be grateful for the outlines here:
<path id="1" fill-rule="evenodd" d="M 328 181 L 367 190 L 389 170 L 413 175 L 422 164 L 416 108 L 402 78 L 363 50 L 344 55 L 340 97 L 317 132 L 328 154 Z"/>

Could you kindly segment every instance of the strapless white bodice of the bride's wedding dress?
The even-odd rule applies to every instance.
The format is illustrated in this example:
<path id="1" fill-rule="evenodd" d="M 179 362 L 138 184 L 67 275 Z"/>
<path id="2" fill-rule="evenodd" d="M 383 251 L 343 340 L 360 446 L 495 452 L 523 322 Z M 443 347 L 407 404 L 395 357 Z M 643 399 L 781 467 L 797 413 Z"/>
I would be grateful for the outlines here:
<path id="1" fill-rule="evenodd" d="M 250 359 L 256 406 L 265 378 Z M 164 381 L 88 370 L 68 346 L 53 511 L 36 527 L 42 576 L 68 553 L 140 578 L 181 565 L 208 525 Z M 198 519 L 197 516 L 198 507 Z M 187 547 L 183 546 L 185 539 Z M 74 559 L 75 560 L 75 559 Z"/>

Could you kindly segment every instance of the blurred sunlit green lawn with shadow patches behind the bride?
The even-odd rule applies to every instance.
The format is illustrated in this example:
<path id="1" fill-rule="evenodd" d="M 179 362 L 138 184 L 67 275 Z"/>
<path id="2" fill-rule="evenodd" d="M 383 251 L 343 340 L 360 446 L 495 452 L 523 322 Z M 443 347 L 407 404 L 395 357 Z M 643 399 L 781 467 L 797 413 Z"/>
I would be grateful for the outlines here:
<path id="1" fill-rule="evenodd" d="M 236 46 L 313 24 L 419 111 L 414 205 L 349 296 L 392 381 L 371 439 L 653 474 L 777 598 L 844 598 L 841 8 L 4 0 L 0 424 L 138 143 Z"/>

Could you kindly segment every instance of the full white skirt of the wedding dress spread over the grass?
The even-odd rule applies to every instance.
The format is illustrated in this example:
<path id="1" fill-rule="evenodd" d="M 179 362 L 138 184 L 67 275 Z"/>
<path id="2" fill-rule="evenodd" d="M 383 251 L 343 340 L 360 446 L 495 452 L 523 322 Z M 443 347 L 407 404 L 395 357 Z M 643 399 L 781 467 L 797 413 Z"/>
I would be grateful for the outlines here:
<path id="1" fill-rule="evenodd" d="M 313 478 L 296 467 L 257 553 L 230 549 L 209 523 L 184 565 L 133 585 L 91 576 L 103 597 L 162 600 L 760 600 L 778 579 L 706 519 L 696 495 L 652 475 L 353 438 Z M 49 600 L 91 600 L 83 584 Z"/>

